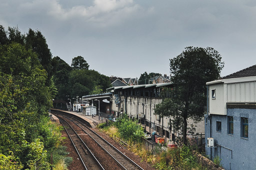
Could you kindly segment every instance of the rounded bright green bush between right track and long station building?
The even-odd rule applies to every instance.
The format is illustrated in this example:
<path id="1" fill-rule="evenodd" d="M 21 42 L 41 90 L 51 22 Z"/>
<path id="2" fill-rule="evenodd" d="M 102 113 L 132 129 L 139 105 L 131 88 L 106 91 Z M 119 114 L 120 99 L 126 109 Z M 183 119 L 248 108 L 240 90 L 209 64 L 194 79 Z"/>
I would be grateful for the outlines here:
<path id="1" fill-rule="evenodd" d="M 125 141 L 139 143 L 144 137 L 143 128 L 137 121 L 129 120 L 126 114 L 115 122 L 120 137 Z"/>

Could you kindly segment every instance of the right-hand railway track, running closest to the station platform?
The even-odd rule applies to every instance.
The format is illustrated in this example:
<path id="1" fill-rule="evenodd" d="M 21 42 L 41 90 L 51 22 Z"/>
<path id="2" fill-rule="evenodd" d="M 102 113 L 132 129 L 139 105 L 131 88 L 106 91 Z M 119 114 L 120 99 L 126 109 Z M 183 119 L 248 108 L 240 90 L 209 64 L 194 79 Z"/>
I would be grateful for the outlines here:
<path id="1" fill-rule="evenodd" d="M 59 117 L 59 115 L 57 115 Z M 143 170 L 136 163 L 122 154 L 119 150 L 117 150 L 114 146 L 88 128 L 81 121 L 77 120 L 74 116 L 61 116 L 69 121 L 72 121 L 76 126 L 78 126 L 84 133 L 88 134 L 90 138 L 92 138 L 95 143 L 97 143 L 107 154 L 109 154 L 124 170 Z"/>

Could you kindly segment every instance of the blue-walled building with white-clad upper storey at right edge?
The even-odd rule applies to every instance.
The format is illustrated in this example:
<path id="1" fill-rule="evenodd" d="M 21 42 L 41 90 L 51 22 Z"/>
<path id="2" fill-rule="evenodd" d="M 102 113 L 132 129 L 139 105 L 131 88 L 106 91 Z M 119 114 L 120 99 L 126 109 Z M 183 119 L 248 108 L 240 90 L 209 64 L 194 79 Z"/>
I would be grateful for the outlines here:
<path id="1" fill-rule="evenodd" d="M 206 85 L 206 155 L 225 170 L 256 170 L 256 65 Z"/>

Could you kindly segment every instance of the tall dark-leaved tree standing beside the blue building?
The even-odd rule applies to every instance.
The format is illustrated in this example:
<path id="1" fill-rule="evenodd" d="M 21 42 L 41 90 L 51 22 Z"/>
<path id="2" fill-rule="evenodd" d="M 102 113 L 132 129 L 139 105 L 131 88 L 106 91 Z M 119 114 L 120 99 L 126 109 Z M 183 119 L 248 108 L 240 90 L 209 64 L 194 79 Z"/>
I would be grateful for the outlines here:
<path id="1" fill-rule="evenodd" d="M 213 48 L 186 47 L 177 57 L 170 59 L 172 90 L 168 98 L 156 105 L 156 114 L 164 112 L 182 131 L 183 144 L 187 144 L 187 120 L 194 123 L 203 117 L 206 107 L 206 82 L 219 77 L 224 63 Z M 162 107 L 162 108 L 161 108 Z"/>

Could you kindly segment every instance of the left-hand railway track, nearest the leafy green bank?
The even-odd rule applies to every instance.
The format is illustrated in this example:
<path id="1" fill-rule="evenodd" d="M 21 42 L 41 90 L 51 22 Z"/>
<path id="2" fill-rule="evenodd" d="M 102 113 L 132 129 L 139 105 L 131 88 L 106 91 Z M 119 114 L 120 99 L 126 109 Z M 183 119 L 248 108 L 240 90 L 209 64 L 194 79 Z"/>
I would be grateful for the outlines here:
<path id="1" fill-rule="evenodd" d="M 70 138 L 80 160 L 82 161 L 84 170 L 104 170 L 94 155 L 90 152 L 85 143 L 81 140 L 75 130 L 64 119 L 58 117 L 63 125 L 68 137 Z"/>

